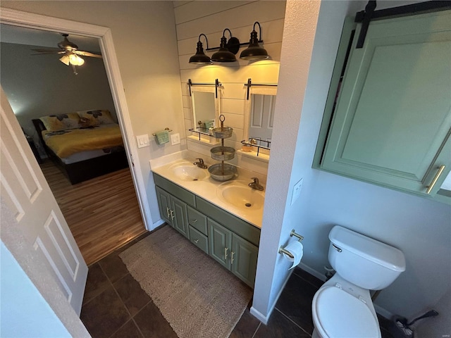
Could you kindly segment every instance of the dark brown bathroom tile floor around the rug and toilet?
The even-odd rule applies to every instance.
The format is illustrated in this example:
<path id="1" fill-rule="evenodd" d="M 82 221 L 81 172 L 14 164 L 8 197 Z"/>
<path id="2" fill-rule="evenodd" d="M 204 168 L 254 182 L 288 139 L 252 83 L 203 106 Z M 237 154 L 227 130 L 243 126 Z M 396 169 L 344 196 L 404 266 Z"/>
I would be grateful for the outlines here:
<path id="1" fill-rule="evenodd" d="M 118 256 L 147 235 L 89 266 L 80 318 L 93 338 L 177 338 Z M 295 268 L 268 325 L 254 318 L 248 306 L 230 338 L 311 337 L 311 300 L 321 284 L 321 280 Z M 384 318 L 380 322 L 383 338 L 392 338 L 383 329 Z"/>

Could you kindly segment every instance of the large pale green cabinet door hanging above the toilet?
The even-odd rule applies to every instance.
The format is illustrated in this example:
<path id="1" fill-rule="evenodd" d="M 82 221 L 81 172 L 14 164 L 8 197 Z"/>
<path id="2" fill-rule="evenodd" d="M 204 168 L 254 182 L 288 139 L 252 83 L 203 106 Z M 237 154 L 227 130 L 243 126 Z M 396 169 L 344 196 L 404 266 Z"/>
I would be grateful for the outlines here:
<path id="1" fill-rule="evenodd" d="M 451 11 L 375 20 L 356 42 L 321 168 L 426 195 L 445 165 L 435 194 L 451 168 Z"/>

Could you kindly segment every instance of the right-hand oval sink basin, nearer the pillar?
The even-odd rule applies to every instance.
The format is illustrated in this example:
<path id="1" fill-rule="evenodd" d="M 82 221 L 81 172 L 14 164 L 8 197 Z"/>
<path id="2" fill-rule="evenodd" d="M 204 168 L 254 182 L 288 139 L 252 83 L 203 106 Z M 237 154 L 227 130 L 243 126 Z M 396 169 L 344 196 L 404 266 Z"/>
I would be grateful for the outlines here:
<path id="1" fill-rule="evenodd" d="M 249 181 L 251 182 L 251 181 Z M 252 189 L 245 181 L 230 181 L 220 184 L 216 194 L 221 201 L 242 210 L 257 211 L 263 208 L 264 192 Z"/>

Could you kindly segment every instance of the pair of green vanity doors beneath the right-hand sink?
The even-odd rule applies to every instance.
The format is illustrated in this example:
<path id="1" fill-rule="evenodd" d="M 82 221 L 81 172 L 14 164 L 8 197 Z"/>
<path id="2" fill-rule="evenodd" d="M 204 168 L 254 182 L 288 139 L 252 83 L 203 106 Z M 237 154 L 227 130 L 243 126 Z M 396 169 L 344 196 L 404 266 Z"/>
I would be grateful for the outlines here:
<path id="1" fill-rule="evenodd" d="M 208 225 L 210 256 L 254 287 L 259 248 L 210 218 Z"/>

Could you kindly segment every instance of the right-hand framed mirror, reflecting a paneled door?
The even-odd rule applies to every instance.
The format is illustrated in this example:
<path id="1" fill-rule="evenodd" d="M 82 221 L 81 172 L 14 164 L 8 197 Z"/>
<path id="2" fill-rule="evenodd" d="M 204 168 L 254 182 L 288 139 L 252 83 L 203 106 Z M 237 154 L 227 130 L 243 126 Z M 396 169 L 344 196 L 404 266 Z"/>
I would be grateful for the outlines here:
<path id="1" fill-rule="evenodd" d="M 244 141 L 260 146 L 242 150 L 255 156 L 269 156 L 273 133 L 274 107 L 276 106 L 277 87 L 251 87 L 249 100 L 245 108 Z M 258 150 L 258 151 L 257 151 Z M 258 153 L 258 154 L 257 154 Z"/>

